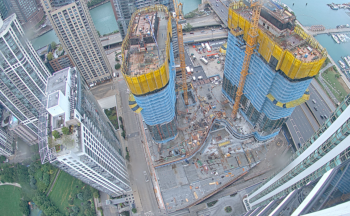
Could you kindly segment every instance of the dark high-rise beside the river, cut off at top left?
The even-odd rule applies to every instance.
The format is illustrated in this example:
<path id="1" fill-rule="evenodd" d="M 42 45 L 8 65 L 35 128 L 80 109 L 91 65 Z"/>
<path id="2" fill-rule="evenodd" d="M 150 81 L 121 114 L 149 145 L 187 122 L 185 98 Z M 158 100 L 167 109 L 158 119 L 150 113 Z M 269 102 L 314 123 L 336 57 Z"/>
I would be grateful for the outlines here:
<path id="1" fill-rule="evenodd" d="M 3 0 L 6 1 L 6 0 Z M 38 0 L 10 0 L 13 12 L 16 13 L 23 29 L 34 27 L 44 16 L 44 11 Z"/>

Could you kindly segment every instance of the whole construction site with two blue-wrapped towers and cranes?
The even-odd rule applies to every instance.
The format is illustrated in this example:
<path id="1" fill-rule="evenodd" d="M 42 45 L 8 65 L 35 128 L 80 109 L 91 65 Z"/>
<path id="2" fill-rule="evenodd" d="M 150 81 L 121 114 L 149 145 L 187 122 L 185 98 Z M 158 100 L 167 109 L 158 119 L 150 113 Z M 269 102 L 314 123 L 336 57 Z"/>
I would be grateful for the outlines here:
<path id="1" fill-rule="evenodd" d="M 166 212 L 241 182 L 253 167 L 250 178 L 270 172 L 266 155 L 272 146 L 275 155 L 290 152 L 281 126 L 309 99 L 307 87 L 327 55 L 272 1 L 231 3 L 227 46 L 184 49 L 182 4 L 174 5 L 172 15 L 158 5 L 135 12 L 122 47 L 129 106 L 142 115 L 154 191 Z M 206 71 L 208 63 L 224 65 L 223 72 Z"/>

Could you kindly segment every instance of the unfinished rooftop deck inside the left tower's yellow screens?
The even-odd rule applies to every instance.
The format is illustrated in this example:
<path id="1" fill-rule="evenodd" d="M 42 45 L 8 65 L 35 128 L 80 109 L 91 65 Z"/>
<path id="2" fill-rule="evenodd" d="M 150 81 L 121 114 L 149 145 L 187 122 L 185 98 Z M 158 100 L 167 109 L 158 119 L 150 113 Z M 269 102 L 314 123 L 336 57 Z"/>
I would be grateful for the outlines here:
<path id="1" fill-rule="evenodd" d="M 135 17 L 132 30 L 128 35 L 130 39 L 128 48 L 124 50 L 128 68 L 127 75 L 147 73 L 164 63 L 167 22 L 168 15 L 161 11 L 139 13 Z M 156 44 L 158 44 L 158 49 Z"/>

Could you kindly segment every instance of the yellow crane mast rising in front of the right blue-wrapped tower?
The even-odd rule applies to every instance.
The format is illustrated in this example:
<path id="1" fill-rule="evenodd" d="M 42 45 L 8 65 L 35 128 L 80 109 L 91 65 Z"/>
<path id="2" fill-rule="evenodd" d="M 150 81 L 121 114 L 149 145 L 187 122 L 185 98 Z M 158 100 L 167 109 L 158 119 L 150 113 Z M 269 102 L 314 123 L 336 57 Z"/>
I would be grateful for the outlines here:
<path id="1" fill-rule="evenodd" d="M 236 118 L 237 116 L 237 111 L 240 103 L 241 96 L 243 95 L 243 87 L 244 87 L 244 82 L 245 82 L 245 77 L 248 74 L 248 68 L 249 68 L 249 63 L 250 63 L 250 58 L 254 52 L 255 48 L 255 43 L 257 40 L 257 29 L 258 29 L 258 22 L 260 18 L 260 9 L 261 9 L 261 1 L 251 1 L 251 7 L 253 7 L 252 11 L 252 21 L 250 23 L 250 29 L 247 35 L 247 42 L 246 42 L 246 48 L 245 48 L 245 56 L 244 56 L 244 61 L 243 61 L 243 67 L 241 71 L 241 75 L 239 78 L 239 85 L 238 89 L 236 92 L 236 99 L 235 99 L 235 104 L 233 105 L 233 110 L 231 113 L 232 118 Z"/>

